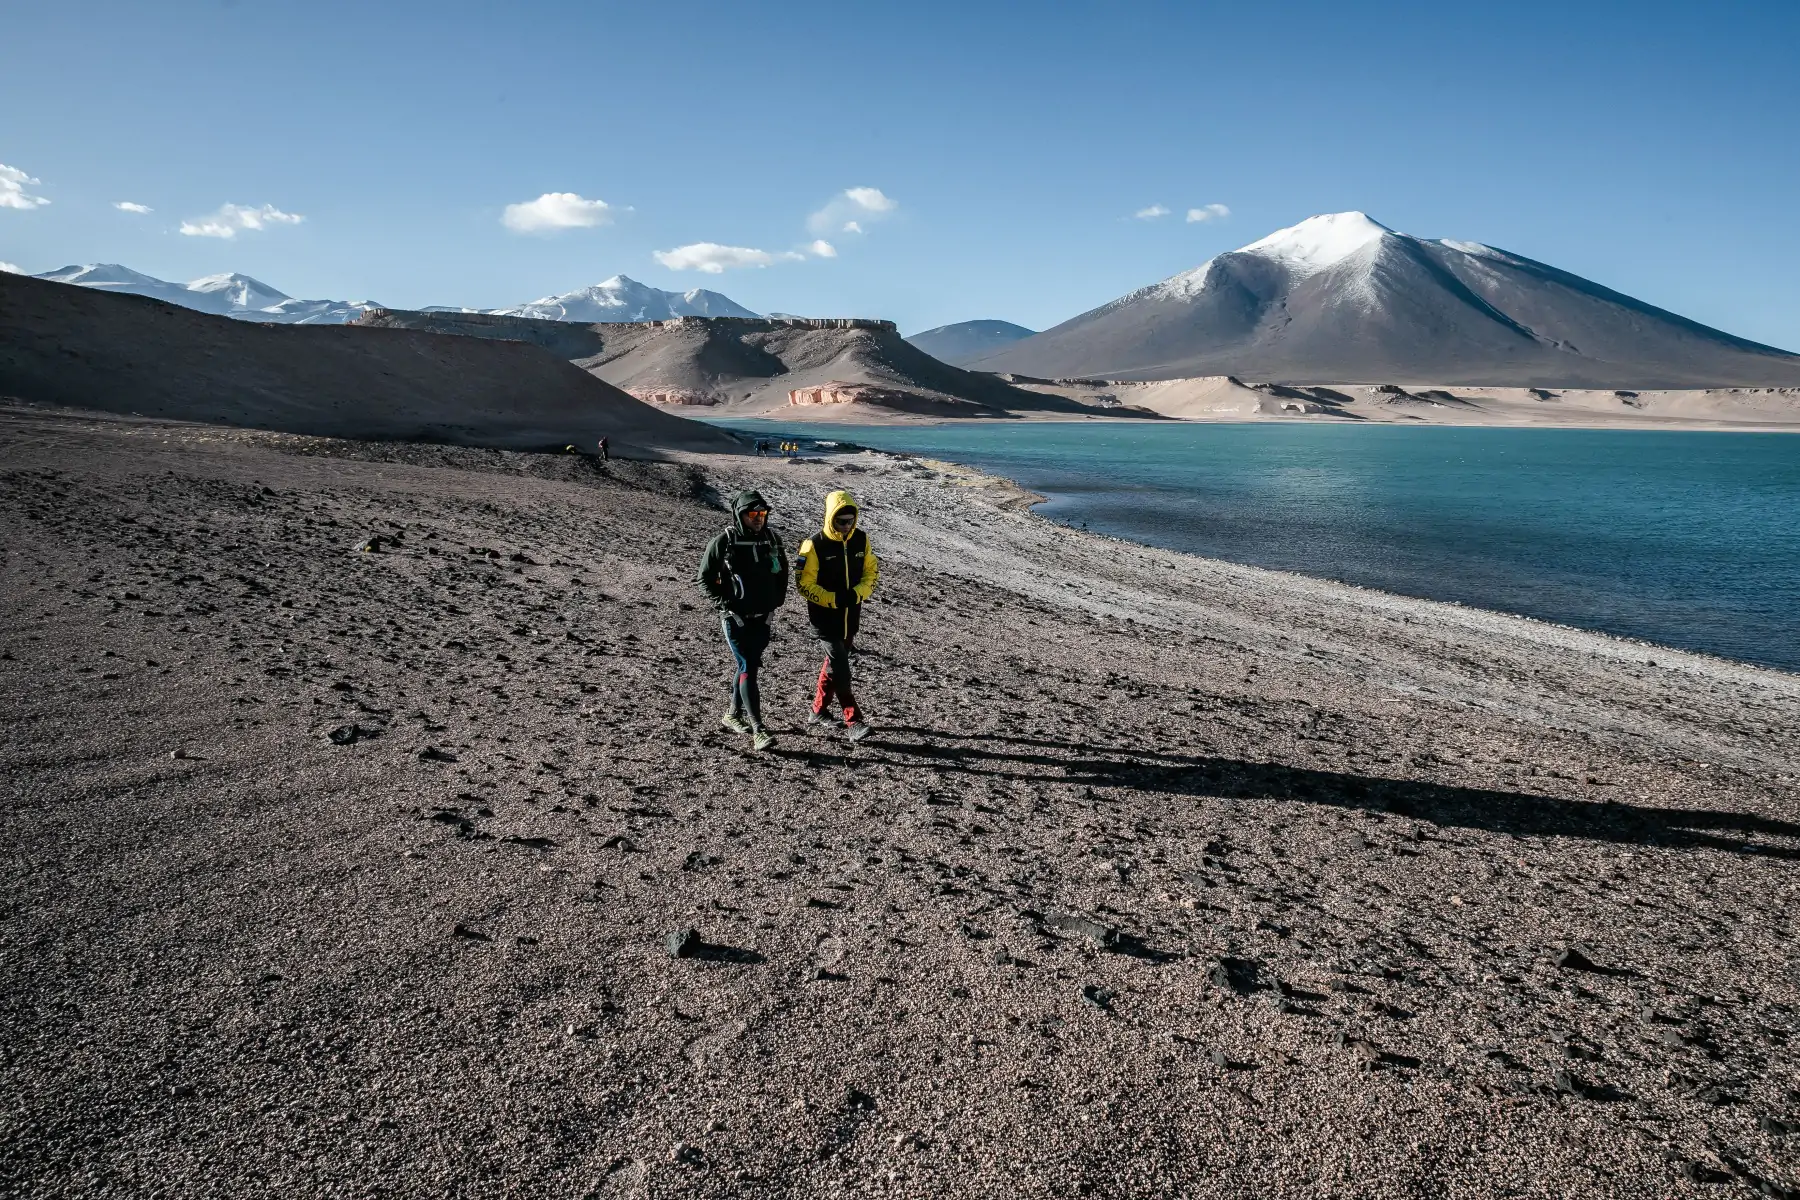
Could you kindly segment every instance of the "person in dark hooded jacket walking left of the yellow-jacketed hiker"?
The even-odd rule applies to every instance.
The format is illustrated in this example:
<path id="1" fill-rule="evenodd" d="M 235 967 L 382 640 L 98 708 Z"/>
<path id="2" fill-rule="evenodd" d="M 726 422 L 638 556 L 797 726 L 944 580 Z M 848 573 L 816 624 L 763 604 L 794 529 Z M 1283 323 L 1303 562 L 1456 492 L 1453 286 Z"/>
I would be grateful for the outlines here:
<path id="1" fill-rule="evenodd" d="M 731 527 L 707 542 L 698 583 L 725 631 L 725 646 L 738 664 L 731 685 L 731 709 L 720 723 L 751 734 L 751 745 L 767 750 L 774 736 L 763 729 L 763 698 L 756 675 L 769 649 L 769 617 L 787 601 L 788 561 L 781 538 L 769 527 L 769 502 L 756 491 L 731 498 Z"/>

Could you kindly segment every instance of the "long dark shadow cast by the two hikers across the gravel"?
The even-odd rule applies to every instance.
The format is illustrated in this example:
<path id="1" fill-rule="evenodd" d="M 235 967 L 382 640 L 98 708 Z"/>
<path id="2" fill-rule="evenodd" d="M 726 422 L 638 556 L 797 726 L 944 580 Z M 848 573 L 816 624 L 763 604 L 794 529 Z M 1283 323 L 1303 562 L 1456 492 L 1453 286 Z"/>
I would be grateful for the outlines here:
<path id="1" fill-rule="evenodd" d="M 943 745 L 900 741 L 895 734 L 976 741 Z M 1737 855 L 1800 860 L 1800 846 L 1746 842 L 1744 838 L 1793 838 L 1800 824 L 1751 813 L 1699 808 L 1649 808 L 1640 804 L 1562 801 L 1528 792 L 1456 788 L 1411 779 L 1348 775 L 1343 772 L 1246 763 L 1240 759 L 1165 754 L 1121 747 L 1094 747 L 1040 738 L 997 734 L 940 734 L 931 729 L 889 727 L 864 743 L 866 752 L 887 752 L 896 766 L 958 770 L 972 775 L 1044 781 L 1060 779 L 1089 786 L 1138 788 L 1172 795 L 1217 795 L 1224 799 L 1280 799 L 1337 808 L 1364 808 L 1417 817 L 1438 826 L 1492 829 L 1516 837 L 1575 837 L 1597 842 L 1642 846 L 1708 847 Z M 905 756 L 914 759 L 907 763 Z M 848 756 L 821 756 L 839 759 Z M 1037 770 L 1026 770 L 1037 768 Z"/>

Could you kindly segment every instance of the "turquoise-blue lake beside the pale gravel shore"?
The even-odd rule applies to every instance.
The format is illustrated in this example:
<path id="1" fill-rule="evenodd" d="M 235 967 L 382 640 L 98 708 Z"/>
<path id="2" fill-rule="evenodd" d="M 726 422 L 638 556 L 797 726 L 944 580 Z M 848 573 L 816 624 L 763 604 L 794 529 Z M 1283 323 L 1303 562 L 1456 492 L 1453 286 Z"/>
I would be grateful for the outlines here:
<path id="1" fill-rule="evenodd" d="M 1800 435 L 781 425 L 967 462 L 1069 525 L 1800 671 Z"/>

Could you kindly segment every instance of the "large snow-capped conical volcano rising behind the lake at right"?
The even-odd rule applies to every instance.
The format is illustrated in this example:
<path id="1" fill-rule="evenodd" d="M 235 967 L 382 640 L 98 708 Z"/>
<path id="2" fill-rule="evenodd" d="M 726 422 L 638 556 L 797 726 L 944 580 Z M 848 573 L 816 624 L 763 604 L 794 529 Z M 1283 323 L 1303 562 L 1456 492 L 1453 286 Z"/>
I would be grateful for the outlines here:
<path id="1" fill-rule="evenodd" d="M 1309 218 L 967 363 L 1053 378 L 1771 387 L 1759 345 L 1474 241 Z"/>

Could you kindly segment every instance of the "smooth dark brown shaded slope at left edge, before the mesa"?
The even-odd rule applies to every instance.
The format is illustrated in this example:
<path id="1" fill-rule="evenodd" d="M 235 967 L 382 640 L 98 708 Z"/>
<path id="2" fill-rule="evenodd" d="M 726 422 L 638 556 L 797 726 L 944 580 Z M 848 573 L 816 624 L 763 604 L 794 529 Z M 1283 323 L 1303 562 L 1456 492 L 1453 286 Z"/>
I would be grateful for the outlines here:
<path id="1" fill-rule="evenodd" d="M 736 444 L 533 345 L 250 324 L 23 275 L 0 275 L 0 396 L 331 437 Z"/>

